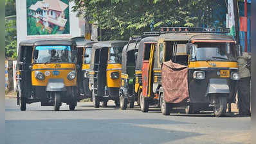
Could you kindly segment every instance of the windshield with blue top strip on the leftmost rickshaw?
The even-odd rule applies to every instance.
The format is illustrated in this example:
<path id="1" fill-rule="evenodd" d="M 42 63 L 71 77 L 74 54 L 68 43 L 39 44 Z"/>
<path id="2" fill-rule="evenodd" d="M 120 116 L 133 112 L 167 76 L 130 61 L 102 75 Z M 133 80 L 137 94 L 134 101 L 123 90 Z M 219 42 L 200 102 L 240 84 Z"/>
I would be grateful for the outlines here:
<path id="1" fill-rule="evenodd" d="M 33 63 L 73 63 L 69 45 L 40 45 L 33 51 Z"/>

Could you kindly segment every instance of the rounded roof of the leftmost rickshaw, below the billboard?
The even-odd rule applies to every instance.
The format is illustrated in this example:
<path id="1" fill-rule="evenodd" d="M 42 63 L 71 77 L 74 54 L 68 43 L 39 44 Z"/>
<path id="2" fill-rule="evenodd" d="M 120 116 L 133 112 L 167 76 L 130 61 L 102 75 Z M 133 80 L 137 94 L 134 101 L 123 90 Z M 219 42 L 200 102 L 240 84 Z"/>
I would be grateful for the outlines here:
<path id="1" fill-rule="evenodd" d="M 41 38 L 41 39 L 29 39 L 23 40 L 20 45 L 76 45 L 75 40 L 66 38 Z"/>

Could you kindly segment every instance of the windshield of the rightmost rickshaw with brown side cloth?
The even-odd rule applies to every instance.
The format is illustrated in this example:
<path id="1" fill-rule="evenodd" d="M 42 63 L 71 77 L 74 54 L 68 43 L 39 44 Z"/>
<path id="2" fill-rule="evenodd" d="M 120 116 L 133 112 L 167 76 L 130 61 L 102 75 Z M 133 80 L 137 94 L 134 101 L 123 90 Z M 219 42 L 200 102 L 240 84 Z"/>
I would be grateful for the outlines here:
<path id="1" fill-rule="evenodd" d="M 192 45 L 191 61 L 236 61 L 232 43 L 197 43 Z"/>

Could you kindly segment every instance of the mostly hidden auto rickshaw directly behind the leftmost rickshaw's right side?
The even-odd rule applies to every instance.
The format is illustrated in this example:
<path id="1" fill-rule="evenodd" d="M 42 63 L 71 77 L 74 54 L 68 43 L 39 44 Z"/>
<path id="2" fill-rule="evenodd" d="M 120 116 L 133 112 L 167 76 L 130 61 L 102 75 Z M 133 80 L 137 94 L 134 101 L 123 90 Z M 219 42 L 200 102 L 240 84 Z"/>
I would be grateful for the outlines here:
<path id="1" fill-rule="evenodd" d="M 94 43 L 96 42 L 89 40 L 77 42 L 78 54 L 82 56 L 81 73 L 77 74 L 77 76 L 81 77 L 82 79 L 79 84 L 80 95 L 82 95 L 80 99 L 91 99 L 91 91 L 89 90 L 89 77 L 87 77 L 87 73 L 89 72 L 90 68 L 91 48 L 93 47 Z"/>

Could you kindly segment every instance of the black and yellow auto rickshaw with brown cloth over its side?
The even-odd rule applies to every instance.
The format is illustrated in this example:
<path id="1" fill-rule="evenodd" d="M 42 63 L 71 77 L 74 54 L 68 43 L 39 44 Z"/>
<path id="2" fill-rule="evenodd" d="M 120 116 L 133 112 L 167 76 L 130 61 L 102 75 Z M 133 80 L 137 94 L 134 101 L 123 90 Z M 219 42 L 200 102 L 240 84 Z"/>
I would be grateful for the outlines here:
<path id="1" fill-rule="evenodd" d="M 215 116 L 221 116 L 239 79 L 235 41 L 230 36 L 215 34 L 226 31 L 163 29 L 156 49 L 151 49 L 149 77 L 146 78 L 149 98 L 145 100 L 157 96 L 164 115 L 169 115 L 171 108 L 183 106 L 186 113 L 214 110 Z M 201 40 L 195 41 L 199 37 Z M 207 45 L 199 49 L 194 42 Z"/>

